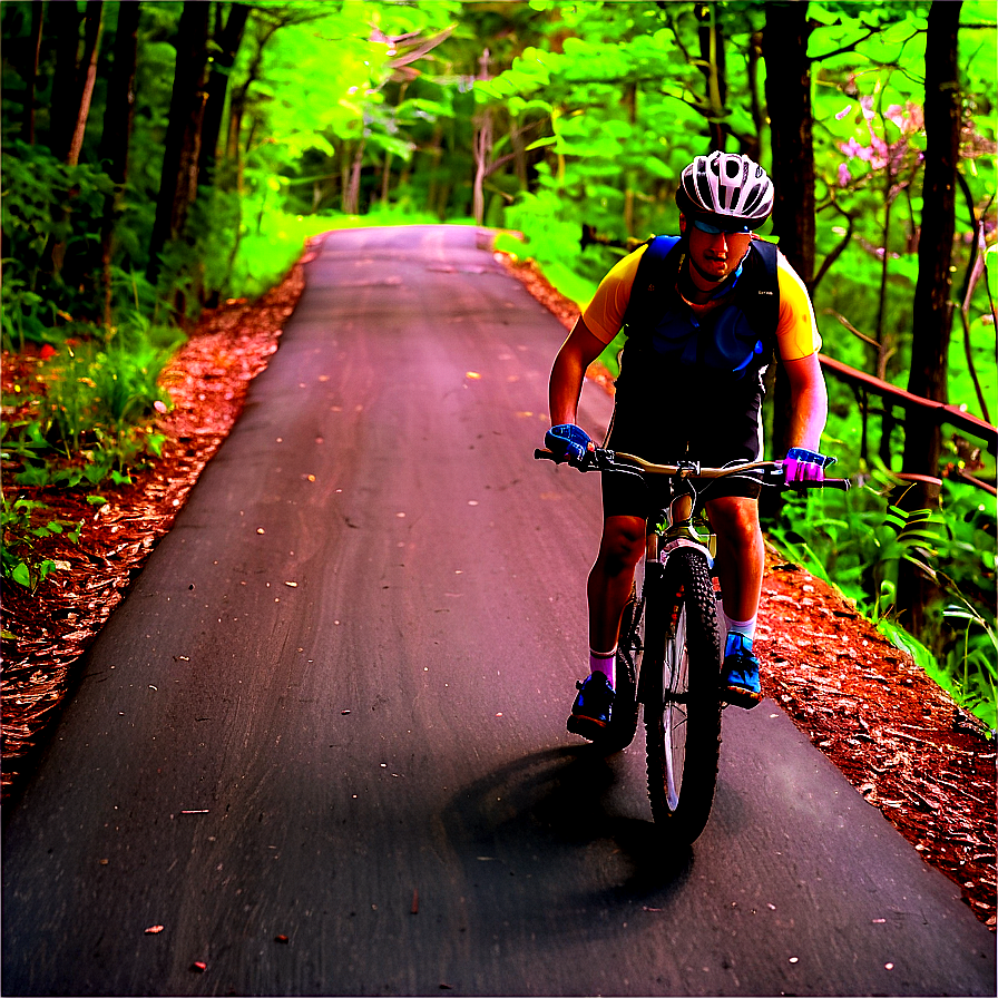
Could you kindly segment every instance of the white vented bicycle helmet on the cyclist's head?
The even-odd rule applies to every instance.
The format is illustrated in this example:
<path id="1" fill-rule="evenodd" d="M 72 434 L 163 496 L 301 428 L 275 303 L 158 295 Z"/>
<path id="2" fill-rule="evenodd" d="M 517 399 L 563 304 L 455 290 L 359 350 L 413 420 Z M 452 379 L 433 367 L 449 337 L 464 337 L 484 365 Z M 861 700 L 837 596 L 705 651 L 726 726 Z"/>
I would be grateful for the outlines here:
<path id="1" fill-rule="evenodd" d="M 754 229 L 773 211 L 773 182 L 747 156 L 711 153 L 697 156 L 683 170 L 676 204 L 684 215 L 736 219 Z"/>

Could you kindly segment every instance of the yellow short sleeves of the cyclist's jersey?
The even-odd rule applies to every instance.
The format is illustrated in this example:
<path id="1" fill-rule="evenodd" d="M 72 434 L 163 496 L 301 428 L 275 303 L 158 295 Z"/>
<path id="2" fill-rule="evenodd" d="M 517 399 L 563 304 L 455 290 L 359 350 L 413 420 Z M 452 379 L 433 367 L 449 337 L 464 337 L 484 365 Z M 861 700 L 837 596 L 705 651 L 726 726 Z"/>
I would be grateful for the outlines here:
<path id="1" fill-rule="evenodd" d="M 624 324 L 630 301 L 630 287 L 646 246 L 618 261 L 603 278 L 593 301 L 583 310 L 583 321 L 601 342 L 609 343 Z M 782 360 L 795 361 L 818 353 L 821 335 L 804 282 L 786 262 L 776 255 L 776 283 L 780 288 L 780 320 L 776 325 L 776 349 Z M 711 304 L 691 305 L 694 314 L 710 311 Z"/>

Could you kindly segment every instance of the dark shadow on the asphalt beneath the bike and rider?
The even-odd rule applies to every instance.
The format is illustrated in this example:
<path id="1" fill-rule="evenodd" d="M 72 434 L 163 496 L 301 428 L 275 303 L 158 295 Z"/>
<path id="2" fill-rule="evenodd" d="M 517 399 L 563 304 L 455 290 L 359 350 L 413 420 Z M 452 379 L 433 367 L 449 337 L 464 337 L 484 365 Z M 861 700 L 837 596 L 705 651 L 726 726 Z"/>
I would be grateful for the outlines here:
<path id="1" fill-rule="evenodd" d="M 548 749 L 452 798 L 441 815 L 447 839 L 496 920 L 550 928 L 554 907 L 562 912 L 559 932 L 588 937 L 593 911 L 668 908 L 689 877 L 693 850 L 666 841 L 650 813 L 643 820 L 615 806 L 623 760 L 590 745 Z"/>

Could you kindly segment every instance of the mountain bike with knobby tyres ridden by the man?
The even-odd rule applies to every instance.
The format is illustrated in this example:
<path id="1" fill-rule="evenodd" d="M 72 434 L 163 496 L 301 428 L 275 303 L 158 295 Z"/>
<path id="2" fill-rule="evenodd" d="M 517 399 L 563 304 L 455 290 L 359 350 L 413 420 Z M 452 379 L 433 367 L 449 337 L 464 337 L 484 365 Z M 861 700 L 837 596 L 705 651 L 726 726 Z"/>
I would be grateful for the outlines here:
<path id="1" fill-rule="evenodd" d="M 547 450 L 535 458 L 564 463 Z M 713 573 L 716 538 L 703 520 L 712 480 L 737 474 L 793 490 L 848 489 L 848 479 L 785 481 L 780 461 L 702 468 L 695 461 L 653 464 L 605 448 L 590 451 L 581 471 L 657 477 L 667 497 L 648 519 L 646 552 L 624 608 L 610 724 L 597 743 L 626 749 L 644 708 L 648 799 L 655 823 L 677 840 L 694 842 L 707 823 L 717 783 L 721 663 L 726 635 L 721 589 Z"/>

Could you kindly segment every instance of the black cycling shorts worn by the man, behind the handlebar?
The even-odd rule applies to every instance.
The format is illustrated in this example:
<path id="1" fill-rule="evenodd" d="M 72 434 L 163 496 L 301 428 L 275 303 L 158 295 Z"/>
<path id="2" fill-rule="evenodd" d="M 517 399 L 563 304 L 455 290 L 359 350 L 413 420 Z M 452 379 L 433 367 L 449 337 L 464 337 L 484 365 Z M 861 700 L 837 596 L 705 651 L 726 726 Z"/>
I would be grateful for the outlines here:
<path id="1" fill-rule="evenodd" d="M 715 398 L 696 409 L 659 405 L 650 412 L 638 412 L 626 400 L 622 404 L 618 394 L 605 446 L 656 464 L 695 460 L 706 468 L 723 468 L 733 461 L 757 461 L 763 452 L 762 394 L 760 387 L 747 395 L 734 392 L 724 401 Z M 601 479 L 604 517 L 647 519 L 668 501 L 665 480 L 663 487 L 656 487 L 650 476 L 643 481 L 616 471 L 604 471 Z M 734 474 L 701 479 L 696 488 L 706 501 L 726 496 L 757 499 L 762 490 L 757 479 Z"/>

